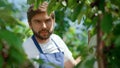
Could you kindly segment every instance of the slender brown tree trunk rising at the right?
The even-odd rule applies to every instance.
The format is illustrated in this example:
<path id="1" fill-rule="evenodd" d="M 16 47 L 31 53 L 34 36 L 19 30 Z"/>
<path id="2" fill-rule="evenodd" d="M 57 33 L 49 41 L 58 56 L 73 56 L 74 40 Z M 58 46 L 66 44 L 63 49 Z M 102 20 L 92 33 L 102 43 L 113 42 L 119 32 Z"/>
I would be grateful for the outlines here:
<path id="1" fill-rule="evenodd" d="M 103 53 L 103 49 L 105 46 L 104 46 L 103 40 L 101 40 L 101 38 L 103 36 L 103 32 L 101 31 L 101 28 L 100 28 L 101 20 L 102 20 L 102 15 L 99 15 L 99 19 L 98 19 L 97 27 L 96 27 L 97 28 L 96 53 L 97 53 L 98 68 L 107 68 L 106 61 L 105 61 L 105 55 Z"/>

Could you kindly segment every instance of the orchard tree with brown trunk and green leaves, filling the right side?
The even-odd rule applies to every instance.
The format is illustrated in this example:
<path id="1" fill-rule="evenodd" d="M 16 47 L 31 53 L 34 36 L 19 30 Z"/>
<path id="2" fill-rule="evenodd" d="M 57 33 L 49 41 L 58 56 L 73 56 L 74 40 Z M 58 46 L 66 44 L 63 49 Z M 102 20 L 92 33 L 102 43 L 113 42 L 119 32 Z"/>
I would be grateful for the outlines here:
<path id="1" fill-rule="evenodd" d="M 36 8 L 45 0 L 28 0 Z M 96 36 L 95 54 L 92 56 L 88 47 L 87 61 L 82 60 L 78 67 L 93 68 L 97 60 L 98 68 L 119 68 L 120 61 L 120 1 L 119 0 L 46 0 L 49 1 L 48 14 L 62 11 L 64 18 L 81 22 L 89 30 L 89 38 Z M 59 18 L 63 18 L 58 16 Z M 63 19 L 64 20 L 64 19 Z M 62 24 L 62 22 L 57 22 Z M 65 23 L 64 23 L 65 24 Z M 63 25 L 64 25 L 63 24 Z M 90 40 L 89 40 L 90 41 Z M 94 42 L 95 42 L 94 41 Z M 92 43 L 94 43 L 92 42 Z M 90 56 L 91 55 L 91 56 Z M 81 55 L 82 56 L 82 55 Z M 84 65 L 85 64 L 85 65 Z"/>

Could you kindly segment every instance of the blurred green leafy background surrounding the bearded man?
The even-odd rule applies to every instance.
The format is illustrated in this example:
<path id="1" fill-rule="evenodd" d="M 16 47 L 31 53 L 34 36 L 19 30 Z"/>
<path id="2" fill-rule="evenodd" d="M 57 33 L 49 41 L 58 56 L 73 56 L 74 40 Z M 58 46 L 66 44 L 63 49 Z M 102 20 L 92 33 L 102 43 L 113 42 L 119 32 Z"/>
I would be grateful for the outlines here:
<path id="1" fill-rule="evenodd" d="M 32 68 L 22 48 L 32 35 L 26 12 L 43 1 L 55 11 L 54 33 L 81 57 L 75 68 L 120 68 L 119 0 L 0 0 L 0 68 Z"/>

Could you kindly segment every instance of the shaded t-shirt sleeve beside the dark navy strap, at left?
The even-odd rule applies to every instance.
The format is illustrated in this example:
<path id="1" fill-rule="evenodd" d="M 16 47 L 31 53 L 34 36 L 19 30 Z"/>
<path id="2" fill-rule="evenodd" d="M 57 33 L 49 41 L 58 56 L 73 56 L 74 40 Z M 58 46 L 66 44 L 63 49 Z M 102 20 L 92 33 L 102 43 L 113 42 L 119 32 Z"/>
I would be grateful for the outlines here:
<path id="1" fill-rule="evenodd" d="M 39 56 L 37 56 L 38 52 L 37 49 L 35 49 L 33 41 L 31 38 L 27 39 L 25 42 L 23 42 L 22 46 L 23 49 L 27 55 L 27 58 L 33 63 L 34 68 L 39 68 L 39 64 L 37 62 L 34 62 L 32 59 L 38 59 Z"/>

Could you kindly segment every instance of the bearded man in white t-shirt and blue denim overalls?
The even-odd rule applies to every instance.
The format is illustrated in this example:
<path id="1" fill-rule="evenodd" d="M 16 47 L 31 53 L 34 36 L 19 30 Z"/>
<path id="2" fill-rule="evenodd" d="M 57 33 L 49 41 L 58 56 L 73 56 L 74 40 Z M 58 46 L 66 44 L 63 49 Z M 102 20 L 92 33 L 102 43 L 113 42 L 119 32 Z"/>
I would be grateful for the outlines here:
<path id="1" fill-rule="evenodd" d="M 72 53 L 62 39 L 53 34 L 55 17 L 52 12 L 47 14 L 48 3 L 44 2 L 38 9 L 32 5 L 27 12 L 28 22 L 33 36 L 23 43 L 23 48 L 29 59 L 40 58 L 43 64 L 34 63 L 35 68 L 73 68 L 76 64 Z M 49 65 L 52 63 L 52 65 Z"/>

